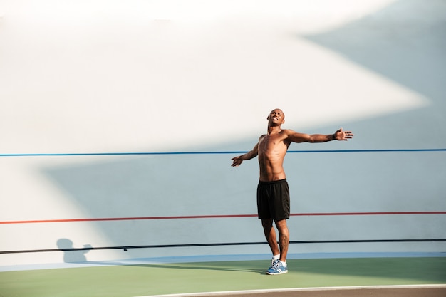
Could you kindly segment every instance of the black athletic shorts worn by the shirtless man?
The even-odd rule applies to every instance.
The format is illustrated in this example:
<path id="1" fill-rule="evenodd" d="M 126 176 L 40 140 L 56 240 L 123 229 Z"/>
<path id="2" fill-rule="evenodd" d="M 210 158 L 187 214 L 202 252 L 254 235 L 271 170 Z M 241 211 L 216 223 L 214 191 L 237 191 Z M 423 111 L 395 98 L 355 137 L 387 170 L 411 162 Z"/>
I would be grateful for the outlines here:
<path id="1" fill-rule="evenodd" d="M 289 219 L 289 187 L 286 179 L 259 182 L 257 213 L 259 219 Z"/>

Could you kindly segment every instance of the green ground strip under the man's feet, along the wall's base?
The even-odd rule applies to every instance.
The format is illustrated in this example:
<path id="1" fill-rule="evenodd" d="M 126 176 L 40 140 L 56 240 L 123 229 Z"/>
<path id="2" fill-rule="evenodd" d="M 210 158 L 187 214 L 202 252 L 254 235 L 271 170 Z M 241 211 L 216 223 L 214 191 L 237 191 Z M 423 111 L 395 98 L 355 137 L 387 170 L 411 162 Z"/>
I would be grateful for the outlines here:
<path id="1" fill-rule="evenodd" d="M 289 260 L 93 266 L 0 272 L 0 297 L 130 297 L 325 286 L 445 284 L 446 257 Z"/>

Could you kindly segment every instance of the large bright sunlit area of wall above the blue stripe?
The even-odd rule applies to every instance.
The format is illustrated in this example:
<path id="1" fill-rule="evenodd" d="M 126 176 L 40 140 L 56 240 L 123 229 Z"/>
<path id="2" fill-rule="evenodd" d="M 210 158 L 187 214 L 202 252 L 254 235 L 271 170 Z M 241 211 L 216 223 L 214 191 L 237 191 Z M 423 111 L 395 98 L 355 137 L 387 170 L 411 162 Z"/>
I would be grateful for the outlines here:
<path id="1" fill-rule="evenodd" d="M 4 6 L 3 152 L 180 150 L 259 135 L 273 108 L 302 130 L 427 104 L 299 37 L 391 1 L 185 2 Z"/>

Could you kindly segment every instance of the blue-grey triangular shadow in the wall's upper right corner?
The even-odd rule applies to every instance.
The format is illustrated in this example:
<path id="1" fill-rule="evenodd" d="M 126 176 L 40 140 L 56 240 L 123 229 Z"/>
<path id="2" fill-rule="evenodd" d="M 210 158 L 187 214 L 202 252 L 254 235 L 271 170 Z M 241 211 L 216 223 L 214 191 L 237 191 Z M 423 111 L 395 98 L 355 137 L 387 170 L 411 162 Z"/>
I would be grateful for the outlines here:
<path id="1" fill-rule="evenodd" d="M 305 36 L 445 106 L 446 2 L 400 0 L 326 33 Z"/>

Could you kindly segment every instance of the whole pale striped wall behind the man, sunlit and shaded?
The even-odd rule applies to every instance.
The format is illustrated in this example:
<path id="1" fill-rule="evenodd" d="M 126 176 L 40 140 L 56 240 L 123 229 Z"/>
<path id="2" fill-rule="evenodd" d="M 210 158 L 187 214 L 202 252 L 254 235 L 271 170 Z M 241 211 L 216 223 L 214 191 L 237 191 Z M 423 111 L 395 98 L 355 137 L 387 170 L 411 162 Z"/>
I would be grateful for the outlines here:
<path id="1" fill-rule="evenodd" d="M 8 154 L 247 151 L 273 108 L 286 128 L 356 135 L 290 150 L 446 148 L 443 1 L 307 2 L 0 2 L 0 251 L 264 241 L 255 217 L 41 222 L 255 214 L 255 160 Z M 445 212 L 445 165 L 445 151 L 291 152 L 291 212 Z M 289 220 L 291 241 L 445 239 L 445 223 L 445 214 Z M 445 249 L 291 244 L 290 253 Z M 0 264 L 266 253 L 54 251 L 0 254 Z"/>

